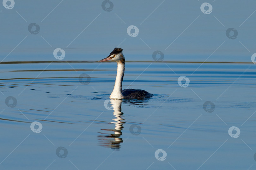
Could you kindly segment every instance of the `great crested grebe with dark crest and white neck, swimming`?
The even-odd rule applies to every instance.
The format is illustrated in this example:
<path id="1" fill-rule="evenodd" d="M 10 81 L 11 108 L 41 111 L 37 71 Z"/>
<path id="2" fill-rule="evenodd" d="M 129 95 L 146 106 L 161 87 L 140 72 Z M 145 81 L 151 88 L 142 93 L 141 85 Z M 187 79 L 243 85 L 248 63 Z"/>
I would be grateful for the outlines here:
<path id="1" fill-rule="evenodd" d="M 145 90 L 135 90 L 135 89 L 125 89 L 122 90 L 122 82 L 125 73 L 125 57 L 122 53 L 122 48 L 114 48 L 114 50 L 105 58 L 100 60 L 103 61 L 115 61 L 117 62 L 117 74 L 116 74 L 116 82 L 113 89 L 113 92 L 109 96 L 111 99 L 144 99 L 152 97 L 153 94 Z"/>

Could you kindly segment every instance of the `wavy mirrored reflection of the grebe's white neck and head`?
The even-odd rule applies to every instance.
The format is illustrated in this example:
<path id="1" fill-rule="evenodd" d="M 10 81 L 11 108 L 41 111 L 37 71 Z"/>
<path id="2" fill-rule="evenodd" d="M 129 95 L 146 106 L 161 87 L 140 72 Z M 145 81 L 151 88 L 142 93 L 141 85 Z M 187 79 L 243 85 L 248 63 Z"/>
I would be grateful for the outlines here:
<path id="1" fill-rule="evenodd" d="M 122 115 L 123 113 L 121 112 L 121 103 L 122 100 L 119 99 L 110 99 L 110 102 L 112 104 L 113 107 L 113 116 L 115 117 L 113 119 L 114 122 L 111 122 L 113 124 L 115 124 L 115 128 L 114 129 L 101 129 L 104 130 L 105 133 L 101 133 L 102 135 L 99 135 L 99 143 L 101 146 L 103 147 L 107 147 L 107 148 L 112 148 L 112 149 L 119 149 L 120 148 L 120 144 L 123 142 L 123 139 L 120 138 L 120 136 L 122 135 L 122 129 L 123 124 L 125 123 L 125 119 L 123 119 Z"/>

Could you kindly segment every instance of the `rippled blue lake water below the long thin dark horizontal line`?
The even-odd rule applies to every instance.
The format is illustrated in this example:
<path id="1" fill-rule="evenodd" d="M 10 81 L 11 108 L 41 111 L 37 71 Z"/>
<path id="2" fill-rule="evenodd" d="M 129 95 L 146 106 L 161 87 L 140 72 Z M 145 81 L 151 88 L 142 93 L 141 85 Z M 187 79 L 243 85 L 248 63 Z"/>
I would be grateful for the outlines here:
<path id="1" fill-rule="evenodd" d="M 201 64 L 126 62 L 154 96 L 110 100 L 116 63 L 1 63 L 0 169 L 255 169 L 256 66 Z"/>

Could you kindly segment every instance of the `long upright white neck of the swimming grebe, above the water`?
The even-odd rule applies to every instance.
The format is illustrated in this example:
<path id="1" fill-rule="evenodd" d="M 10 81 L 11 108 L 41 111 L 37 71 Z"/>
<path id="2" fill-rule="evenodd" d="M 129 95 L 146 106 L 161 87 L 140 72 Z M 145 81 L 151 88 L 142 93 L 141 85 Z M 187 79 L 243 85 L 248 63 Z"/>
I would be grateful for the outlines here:
<path id="1" fill-rule="evenodd" d="M 118 62 L 117 63 L 117 74 L 116 74 L 116 82 L 109 98 L 112 99 L 123 99 L 122 95 L 122 81 L 125 73 L 125 63 Z"/>

